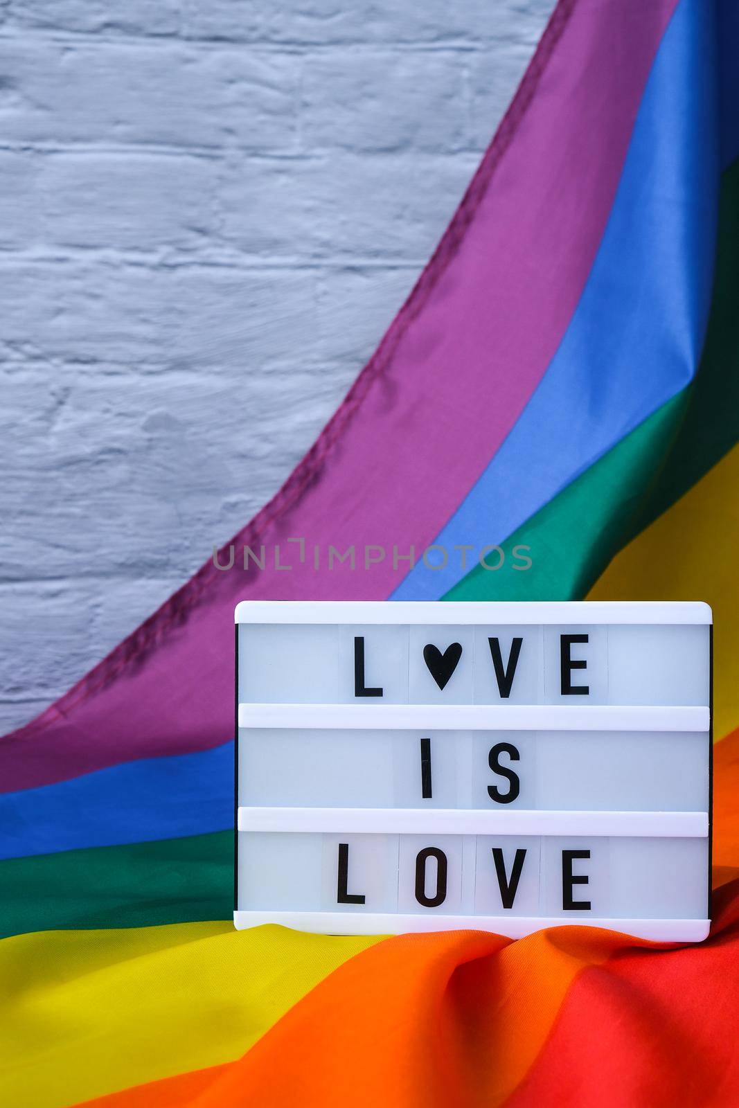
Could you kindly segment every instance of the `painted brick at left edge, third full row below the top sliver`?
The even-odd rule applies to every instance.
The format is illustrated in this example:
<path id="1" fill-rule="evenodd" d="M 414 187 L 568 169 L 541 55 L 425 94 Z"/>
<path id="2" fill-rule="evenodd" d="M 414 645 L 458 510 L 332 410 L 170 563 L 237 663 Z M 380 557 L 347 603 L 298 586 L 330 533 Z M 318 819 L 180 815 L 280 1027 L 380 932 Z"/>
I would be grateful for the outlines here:
<path id="1" fill-rule="evenodd" d="M 28 357 L 261 372 L 315 346 L 310 269 L 0 261 L 2 343 Z M 0 343 L 0 349 L 2 348 Z"/>

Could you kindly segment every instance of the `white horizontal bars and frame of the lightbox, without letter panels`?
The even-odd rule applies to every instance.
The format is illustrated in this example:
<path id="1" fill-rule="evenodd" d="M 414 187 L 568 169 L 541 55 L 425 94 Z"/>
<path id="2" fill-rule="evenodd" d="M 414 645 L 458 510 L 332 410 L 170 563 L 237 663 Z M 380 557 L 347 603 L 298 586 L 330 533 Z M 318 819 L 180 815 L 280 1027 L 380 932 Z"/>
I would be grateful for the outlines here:
<path id="1" fill-rule="evenodd" d="M 472 929 L 511 938 L 550 926 L 604 927 L 656 942 L 699 942 L 711 916 L 712 838 L 712 613 L 704 602 L 388 602 L 243 601 L 236 606 L 235 673 L 235 875 L 237 929 L 266 923 L 329 934 L 393 934 Z M 238 702 L 239 624 L 329 625 L 706 625 L 709 628 L 708 706 L 628 705 L 348 705 Z M 299 729 L 462 729 L 695 731 L 708 743 L 707 812 L 481 811 L 458 809 L 239 808 L 239 728 Z M 238 835 L 244 831 L 431 834 L 538 834 L 689 837 L 708 839 L 707 916 L 676 919 L 563 920 L 560 916 L 363 913 L 330 911 L 253 911 L 238 907 Z"/>

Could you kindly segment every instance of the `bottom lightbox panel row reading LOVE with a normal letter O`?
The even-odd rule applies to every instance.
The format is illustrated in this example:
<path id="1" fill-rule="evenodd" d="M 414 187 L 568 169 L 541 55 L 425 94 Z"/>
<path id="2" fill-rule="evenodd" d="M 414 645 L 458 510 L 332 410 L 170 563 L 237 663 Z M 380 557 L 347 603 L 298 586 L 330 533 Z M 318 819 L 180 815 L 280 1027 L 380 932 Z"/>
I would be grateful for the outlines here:
<path id="1" fill-rule="evenodd" d="M 628 930 L 705 916 L 707 863 L 707 839 L 243 832 L 237 906 L 443 914 L 458 926 L 608 919 Z"/>

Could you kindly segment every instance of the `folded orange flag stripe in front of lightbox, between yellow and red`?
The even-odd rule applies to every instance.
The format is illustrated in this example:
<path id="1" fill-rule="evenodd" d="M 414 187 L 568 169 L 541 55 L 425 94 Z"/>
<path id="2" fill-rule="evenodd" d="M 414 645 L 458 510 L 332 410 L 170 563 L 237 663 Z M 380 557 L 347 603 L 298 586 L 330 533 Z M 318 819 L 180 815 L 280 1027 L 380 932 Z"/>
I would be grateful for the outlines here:
<path id="1" fill-rule="evenodd" d="M 525 1076 L 577 973 L 622 944 L 589 927 L 399 935 L 330 974 L 238 1061 L 89 1108 L 490 1108 Z"/>

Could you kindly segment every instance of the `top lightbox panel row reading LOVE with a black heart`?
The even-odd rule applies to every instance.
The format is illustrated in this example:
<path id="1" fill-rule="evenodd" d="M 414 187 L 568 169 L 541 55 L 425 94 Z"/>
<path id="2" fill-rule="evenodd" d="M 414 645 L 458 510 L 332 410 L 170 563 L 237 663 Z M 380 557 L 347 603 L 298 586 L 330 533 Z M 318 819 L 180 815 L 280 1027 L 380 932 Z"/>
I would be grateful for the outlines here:
<path id="1" fill-rule="evenodd" d="M 708 636 L 699 624 L 245 623 L 239 702 L 708 705 Z"/>

